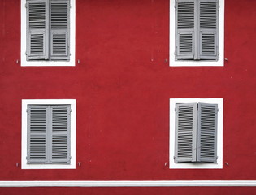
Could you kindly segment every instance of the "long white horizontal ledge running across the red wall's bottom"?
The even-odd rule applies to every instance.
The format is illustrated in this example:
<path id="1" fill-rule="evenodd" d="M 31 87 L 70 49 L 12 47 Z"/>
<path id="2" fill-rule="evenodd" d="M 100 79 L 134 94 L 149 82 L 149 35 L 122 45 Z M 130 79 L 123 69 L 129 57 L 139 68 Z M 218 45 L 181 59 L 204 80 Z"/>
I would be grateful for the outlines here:
<path id="1" fill-rule="evenodd" d="M 0 181 L 0 187 L 232 187 L 256 186 L 256 180 Z"/>

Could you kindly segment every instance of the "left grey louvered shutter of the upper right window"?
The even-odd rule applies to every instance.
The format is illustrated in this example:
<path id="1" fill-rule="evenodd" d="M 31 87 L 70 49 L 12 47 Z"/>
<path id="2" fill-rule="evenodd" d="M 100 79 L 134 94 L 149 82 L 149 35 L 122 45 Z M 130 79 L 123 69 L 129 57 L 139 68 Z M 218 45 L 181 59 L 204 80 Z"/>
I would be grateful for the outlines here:
<path id="1" fill-rule="evenodd" d="M 183 8 L 186 5 L 186 3 L 193 3 L 193 28 L 191 28 L 191 20 L 188 20 L 187 17 L 183 17 L 184 15 L 188 15 L 188 13 L 182 13 L 179 17 L 179 7 L 182 6 Z M 189 7 L 189 4 L 188 4 Z M 190 7 L 191 8 L 191 7 Z M 180 8 L 180 10 L 183 10 Z M 187 10 L 188 11 L 188 10 Z M 196 43 L 196 26 L 197 26 L 197 2 L 195 0 L 176 0 L 176 22 L 175 22 L 175 33 L 176 33 L 176 60 L 178 59 L 193 59 L 195 55 L 195 43 Z M 192 13 L 190 13 L 192 14 Z M 192 15 L 191 15 L 192 16 Z M 181 20 L 184 21 L 181 21 Z M 180 28 L 179 28 L 179 21 L 180 21 Z M 190 28 L 184 28 L 184 24 L 187 22 L 187 24 L 190 26 Z M 182 27 L 183 25 L 183 27 Z"/>

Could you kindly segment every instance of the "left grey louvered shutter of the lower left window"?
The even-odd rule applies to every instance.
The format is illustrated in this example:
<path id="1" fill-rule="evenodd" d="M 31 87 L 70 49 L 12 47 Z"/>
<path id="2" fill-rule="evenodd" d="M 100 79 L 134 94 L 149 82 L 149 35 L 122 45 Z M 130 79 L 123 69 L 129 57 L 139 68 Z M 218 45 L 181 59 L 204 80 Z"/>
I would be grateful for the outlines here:
<path id="1" fill-rule="evenodd" d="M 49 106 L 28 106 L 28 163 L 48 163 Z"/>

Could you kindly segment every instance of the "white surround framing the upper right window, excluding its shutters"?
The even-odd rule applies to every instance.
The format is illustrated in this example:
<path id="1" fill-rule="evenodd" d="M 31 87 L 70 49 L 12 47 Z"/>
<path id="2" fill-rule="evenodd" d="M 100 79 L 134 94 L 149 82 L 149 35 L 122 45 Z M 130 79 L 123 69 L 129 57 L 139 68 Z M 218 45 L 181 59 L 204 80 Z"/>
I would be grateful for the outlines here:
<path id="1" fill-rule="evenodd" d="M 223 67 L 224 66 L 224 0 L 219 0 L 219 60 L 175 60 L 175 0 L 170 0 L 170 67 Z"/>

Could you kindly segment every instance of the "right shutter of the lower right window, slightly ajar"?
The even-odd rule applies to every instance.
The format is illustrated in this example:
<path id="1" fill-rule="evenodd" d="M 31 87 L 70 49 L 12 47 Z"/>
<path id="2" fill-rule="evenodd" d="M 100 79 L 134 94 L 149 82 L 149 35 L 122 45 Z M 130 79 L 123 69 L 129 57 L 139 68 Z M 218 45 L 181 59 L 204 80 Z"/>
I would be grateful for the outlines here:
<path id="1" fill-rule="evenodd" d="M 217 162 L 217 117 L 217 104 L 198 104 L 198 162 Z"/>

